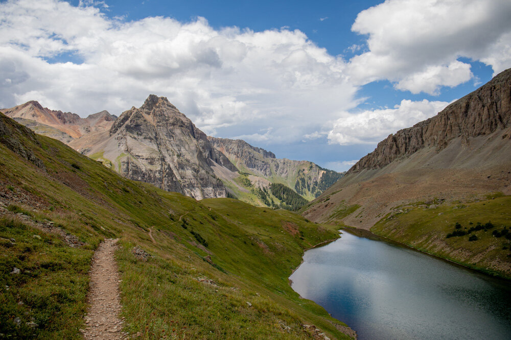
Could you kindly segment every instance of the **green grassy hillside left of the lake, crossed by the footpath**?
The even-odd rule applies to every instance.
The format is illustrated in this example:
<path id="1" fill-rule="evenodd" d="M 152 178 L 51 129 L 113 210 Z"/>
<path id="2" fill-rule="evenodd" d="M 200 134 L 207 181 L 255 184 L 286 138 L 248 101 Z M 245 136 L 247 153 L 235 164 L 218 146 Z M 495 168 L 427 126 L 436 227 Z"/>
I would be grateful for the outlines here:
<path id="1" fill-rule="evenodd" d="M 303 249 L 334 227 L 122 178 L 0 115 L 0 333 L 80 337 L 92 254 L 114 237 L 130 334 L 310 338 L 302 325 L 314 324 L 347 337 L 288 284 Z"/>

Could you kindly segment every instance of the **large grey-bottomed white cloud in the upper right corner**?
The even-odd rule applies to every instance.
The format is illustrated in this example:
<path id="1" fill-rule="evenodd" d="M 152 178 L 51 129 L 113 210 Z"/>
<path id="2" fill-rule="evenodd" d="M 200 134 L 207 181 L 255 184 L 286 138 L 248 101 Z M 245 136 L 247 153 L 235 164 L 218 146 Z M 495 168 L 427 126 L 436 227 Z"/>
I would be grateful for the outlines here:
<path id="1" fill-rule="evenodd" d="M 389 80 L 412 93 L 437 94 L 471 79 L 466 57 L 511 66 L 509 0 L 387 0 L 360 12 L 352 26 L 368 51 L 350 60 L 357 84 Z"/>

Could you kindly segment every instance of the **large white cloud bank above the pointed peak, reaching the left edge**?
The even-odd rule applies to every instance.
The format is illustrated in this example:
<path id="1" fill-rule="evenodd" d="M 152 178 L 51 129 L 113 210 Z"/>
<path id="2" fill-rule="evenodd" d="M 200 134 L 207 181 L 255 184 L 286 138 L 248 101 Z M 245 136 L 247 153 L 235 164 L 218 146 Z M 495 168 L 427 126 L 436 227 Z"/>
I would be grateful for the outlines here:
<path id="1" fill-rule="evenodd" d="M 39 100 L 82 116 L 120 114 L 154 93 L 206 133 L 289 142 L 357 104 L 345 61 L 298 30 L 123 21 L 92 5 L 105 3 L 0 3 L 0 72 L 10 80 L 0 84 L 0 106 Z"/>

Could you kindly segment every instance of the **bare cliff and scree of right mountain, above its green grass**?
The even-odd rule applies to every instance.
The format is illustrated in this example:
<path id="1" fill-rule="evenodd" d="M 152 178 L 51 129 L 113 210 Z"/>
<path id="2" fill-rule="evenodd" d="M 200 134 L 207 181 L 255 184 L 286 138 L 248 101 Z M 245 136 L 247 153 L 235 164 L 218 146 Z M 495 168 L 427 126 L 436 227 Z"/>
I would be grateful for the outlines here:
<path id="1" fill-rule="evenodd" d="M 403 204 L 458 204 L 494 192 L 511 195 L 510 169 L 508 69 L 436 116 L 380 142 L 304 216 L 369 229 Z"/>

